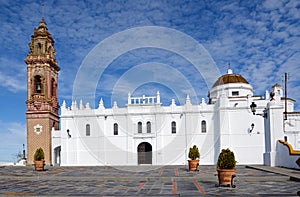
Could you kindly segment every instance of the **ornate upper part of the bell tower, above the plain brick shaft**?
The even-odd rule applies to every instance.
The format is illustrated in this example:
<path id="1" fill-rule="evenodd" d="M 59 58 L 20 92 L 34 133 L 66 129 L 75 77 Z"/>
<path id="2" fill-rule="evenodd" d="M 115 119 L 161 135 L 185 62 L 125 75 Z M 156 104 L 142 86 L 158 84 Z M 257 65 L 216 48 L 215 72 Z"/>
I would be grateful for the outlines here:
<path id="1" fill-rule="evenodd" d="M 28 111 L 46 110 L 58 116 L 58 71 L 52 34 L 48 32 L 44 17 L 34 28 L 25 60 L 28 65 Z"/>

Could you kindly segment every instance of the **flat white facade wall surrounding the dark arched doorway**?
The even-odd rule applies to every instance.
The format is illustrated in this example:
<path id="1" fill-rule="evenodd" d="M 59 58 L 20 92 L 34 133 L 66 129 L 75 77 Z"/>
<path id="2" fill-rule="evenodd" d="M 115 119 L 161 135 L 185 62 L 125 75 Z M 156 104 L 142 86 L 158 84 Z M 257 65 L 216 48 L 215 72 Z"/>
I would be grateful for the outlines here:
<path id="1" fill-rule="evenodd" d="M 238 164 L 262 164 L 263 118 L 249 110 L 251 101 L 248 97 L 227 99 L 221 113 L 218 103 L 95 110 L 65 107 L 61 115 L 62 165 L 137 165 L 137 147 L 142 142 L 152 145 L 153 165 L 187 164 L 194 144 L 200 150 L 202 165 L 215 164 L 220 149 L 227 147 L 234 150 Z M 260 106 L 265 100 L 257 102 Z M 202 120 L 206 121 L 206 133 L 201 132 Z M 139 121 L 143 123 L 142 134 L 137 131 Z M 148 121 L 150 134 L 146 133 Z M 171 133 L 172 121 L 176 122 L 176 134 Z M 118 124 L 118 135 L 113 135 L 114 123 Z M 250 133 L 252 123 L 255 127 Z M 90 125 L 90 136 L 86 136 L 86 124 Z"/>

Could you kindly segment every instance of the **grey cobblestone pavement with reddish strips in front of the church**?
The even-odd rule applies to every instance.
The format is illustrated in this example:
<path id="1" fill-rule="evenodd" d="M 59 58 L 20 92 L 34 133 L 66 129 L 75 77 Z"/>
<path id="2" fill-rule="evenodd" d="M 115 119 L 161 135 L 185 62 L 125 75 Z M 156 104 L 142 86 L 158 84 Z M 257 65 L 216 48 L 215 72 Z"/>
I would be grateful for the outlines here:
<path id="1" fill-rule="evenodd" d="M 295 171 L 296 172 L 296 171 Z M 297 171 L 299 173 L 299 171 Z M 215 166 L 0 167 L 0 195 L 51 196 L 298 196 L 289 176 L 237 166 L 236 188 L 216 187 Z"/>

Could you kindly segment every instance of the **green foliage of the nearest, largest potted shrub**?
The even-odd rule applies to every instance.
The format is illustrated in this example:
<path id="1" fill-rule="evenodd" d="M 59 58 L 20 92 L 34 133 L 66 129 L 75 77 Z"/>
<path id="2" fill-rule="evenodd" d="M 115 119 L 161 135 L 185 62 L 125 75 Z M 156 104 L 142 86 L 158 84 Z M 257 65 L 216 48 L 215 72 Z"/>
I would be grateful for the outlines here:
<path id="1" fill-rule="evenodd" d="M 217 168 L 218 169 L 233 169 L 235 168 L 235 157 L 234 153 L 229 149 L 222 149 L 218 162 L 217 162 Z"/>

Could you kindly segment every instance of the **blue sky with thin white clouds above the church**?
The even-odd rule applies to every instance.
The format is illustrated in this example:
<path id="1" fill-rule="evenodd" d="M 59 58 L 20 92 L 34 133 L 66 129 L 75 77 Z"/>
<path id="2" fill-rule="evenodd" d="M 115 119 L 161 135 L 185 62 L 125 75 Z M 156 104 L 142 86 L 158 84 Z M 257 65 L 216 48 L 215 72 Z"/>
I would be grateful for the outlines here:
<path id="1" fill-rule="evenodd" d="M 111 44 L 116 50 L 120 43 L 112 42 L 114 38 L 147 27 L 170 30 L 170 42 L 162 43 L 165 47 L 141 45 L 115 57 L 92 82 L 96 84 L 92 105 L 102 97 L 106 107 L 113 100 L 124 107 L 128 90 L 136 96 L 154 95 L 159 90 L 164 105 L 172 98 L 181 103 L 191 94 L 196 104 L 202 97 L 207 99 L 211 79 L 217 80 L 215 73 L 225 74 L 229 62 L 234 73 L 252 84 L 255 95 L 263 95 L 275 83 L 282 84 L 282 76 L 288 72 L 288 96 L 300 101 L 299 1 L 53 0 L 44 1 L 43 9 L 41 5 L 42 1 L 0 0 L 0 161 L 13 161 L 12 155 L 26 144 L 24 59 L 42 15 L 56 42 L 60 103 L 66 100 L 70 105 L 78 72 L 97 46 Z M 134 40 L 134 36 L 138 35 L 132 33 L 128 39 Z M 168 50 L 175 44 L 189 49 L 188 38 L 203 47 L 201 53 L 208 54 L 202 69 L 213 72 L 199 73 L 183 52 Z M 153 34 L 147 39 L 161 41 Z M 105 53 L 109 51 L 98 51 L 97 58 Z M 145 78 L 149 73 L 152 77 Z"/>

